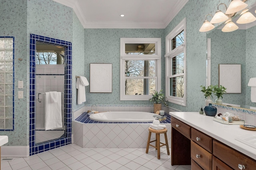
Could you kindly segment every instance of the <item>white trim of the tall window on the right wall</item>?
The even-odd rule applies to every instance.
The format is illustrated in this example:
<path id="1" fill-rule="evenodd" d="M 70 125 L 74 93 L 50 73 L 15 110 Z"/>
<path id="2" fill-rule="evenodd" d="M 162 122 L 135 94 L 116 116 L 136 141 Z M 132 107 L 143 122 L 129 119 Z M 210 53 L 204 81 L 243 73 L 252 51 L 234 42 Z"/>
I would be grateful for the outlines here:
<path id="1" fill-rule="evenodd" d="M 171 51 L 171 40 L 184 30 L 184 43 Z M 172 77 L 170 72 L 170 60 L 174 55 L 178 55 L 184 51 L 184 96 L 183 98 L 170 96 L 170 78 Z M 172 57 L 171 57 L 172 56 Z M 166 68 L 166 100 L 168 102 L 186 106 L 186 18 L 184 18 L 167 36 L 166 36 L 166 55 L 165 68 Z M 177 76 L 177 75 L 176 75 Z"/>

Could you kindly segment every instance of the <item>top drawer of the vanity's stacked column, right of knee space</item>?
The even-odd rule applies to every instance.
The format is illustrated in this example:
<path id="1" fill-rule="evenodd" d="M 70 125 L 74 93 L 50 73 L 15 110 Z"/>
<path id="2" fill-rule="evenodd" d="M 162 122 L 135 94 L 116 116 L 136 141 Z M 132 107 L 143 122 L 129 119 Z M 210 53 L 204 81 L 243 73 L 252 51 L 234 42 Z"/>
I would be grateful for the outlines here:
<path id="1" fill-rule="evenodd" d="M 191 140 L 212 153 L 212 138 L 208 137 L 204 133 L 191 128 Z"/>

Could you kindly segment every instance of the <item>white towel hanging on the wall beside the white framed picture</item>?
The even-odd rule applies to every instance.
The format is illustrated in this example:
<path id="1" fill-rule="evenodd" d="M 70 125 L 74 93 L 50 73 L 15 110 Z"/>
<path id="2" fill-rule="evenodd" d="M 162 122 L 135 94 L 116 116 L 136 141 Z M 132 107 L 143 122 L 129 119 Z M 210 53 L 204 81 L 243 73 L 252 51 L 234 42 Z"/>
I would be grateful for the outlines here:
<path id="1" fill-rule="evenodd" d="M 85 88 L 84 86 L 88 86 L 89 82 L 86 77 L 80 76 L 76 78 L 76 88 L 77 90 L 77 104 L 82 104 L 82 102 L 86 102 L 85 97 Z"/>

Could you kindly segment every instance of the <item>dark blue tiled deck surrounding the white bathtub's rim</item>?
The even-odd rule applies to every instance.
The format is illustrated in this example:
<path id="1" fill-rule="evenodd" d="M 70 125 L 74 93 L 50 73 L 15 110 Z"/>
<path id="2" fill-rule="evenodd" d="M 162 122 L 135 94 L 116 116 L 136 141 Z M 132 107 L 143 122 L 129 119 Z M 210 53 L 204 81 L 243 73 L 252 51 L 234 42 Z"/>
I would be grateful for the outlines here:
<path id="1" fill-rule="evenodd" d="M 162 120 L 160 121 L 160 123 L 171 123 L 171 116 L 167 113 L 164 113 L 164 115 L 166 116 L 166 120 Z M 102 121 L 94 121 L 92 119 L 90 119 L 89 117 L 90 115 L 88 115 L 87 112 L 82 113 L 82 115 L 78 116 L 75 121 L 79 121 L 81 123 L 108 123 L 108 124 L 124 124 L 124 123 L 129 123 L 129 124 L 136 124 L 136 123 L 152 123 L 151 122 L 102 122 Z"/>

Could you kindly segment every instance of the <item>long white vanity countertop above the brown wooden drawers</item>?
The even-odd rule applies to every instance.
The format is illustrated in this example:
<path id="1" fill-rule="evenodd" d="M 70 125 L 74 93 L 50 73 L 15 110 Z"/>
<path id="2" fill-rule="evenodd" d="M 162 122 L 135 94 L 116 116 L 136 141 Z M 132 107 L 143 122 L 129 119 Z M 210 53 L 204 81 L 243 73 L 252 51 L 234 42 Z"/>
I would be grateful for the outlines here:
<path id="1" fill-rule="evenodd" d="M 170 112 L 169 114 L 256 160 L 254 147 L 235 140 L 244 135 L 256 135 L 256 131 L 241 129 L 239 125 L 225 125 L 214 121 L 212 116 L 200 115 L 199 112 Z"/>

